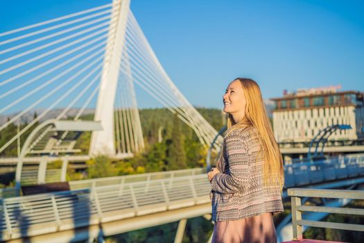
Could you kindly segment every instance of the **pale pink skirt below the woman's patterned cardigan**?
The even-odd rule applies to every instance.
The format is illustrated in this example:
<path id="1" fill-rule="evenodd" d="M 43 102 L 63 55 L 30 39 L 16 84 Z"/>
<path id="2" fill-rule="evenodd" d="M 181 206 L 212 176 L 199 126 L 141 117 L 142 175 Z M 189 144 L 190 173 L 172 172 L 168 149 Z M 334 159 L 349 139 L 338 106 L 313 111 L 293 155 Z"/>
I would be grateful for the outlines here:
<path id="1" fill-rule="evenodd" d="M 275 224 L 270 212 L 254 217 L 214 224 L 212 243 L 277 243 Z"/>

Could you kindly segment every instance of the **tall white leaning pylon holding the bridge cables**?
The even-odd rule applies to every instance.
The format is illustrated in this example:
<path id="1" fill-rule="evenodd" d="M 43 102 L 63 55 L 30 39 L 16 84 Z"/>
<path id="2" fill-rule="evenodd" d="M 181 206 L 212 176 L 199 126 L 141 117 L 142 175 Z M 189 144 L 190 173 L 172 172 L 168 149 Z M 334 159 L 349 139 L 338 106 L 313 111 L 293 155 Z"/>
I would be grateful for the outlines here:
<path id="1" fill-rule="evenodd" d="M 93 131 L 89 155 L 114 155 L 114 103 L 119 78 L 121 51 L 125 44 L 125 29 L 129 13 L 130 0 L 112 2 L 112 19 L 107 38 L 100 91 L 95 110 L 95 121 L 101 121 L 102 131 Z"/>

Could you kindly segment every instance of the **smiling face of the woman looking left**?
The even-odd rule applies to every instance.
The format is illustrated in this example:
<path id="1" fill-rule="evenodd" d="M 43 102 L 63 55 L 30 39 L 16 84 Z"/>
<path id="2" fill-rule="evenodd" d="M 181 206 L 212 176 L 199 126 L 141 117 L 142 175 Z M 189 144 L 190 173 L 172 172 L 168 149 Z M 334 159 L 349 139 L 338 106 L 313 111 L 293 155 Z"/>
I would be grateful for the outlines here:
<path id="1" fill-rule="evenodd" d="M 239 80 L 232 81 L 227 86 L 223 96 L 224 112 L 231 115 L 237 115 L 240 118 L 245 117 L 246 99 L 243 87 Z"/>

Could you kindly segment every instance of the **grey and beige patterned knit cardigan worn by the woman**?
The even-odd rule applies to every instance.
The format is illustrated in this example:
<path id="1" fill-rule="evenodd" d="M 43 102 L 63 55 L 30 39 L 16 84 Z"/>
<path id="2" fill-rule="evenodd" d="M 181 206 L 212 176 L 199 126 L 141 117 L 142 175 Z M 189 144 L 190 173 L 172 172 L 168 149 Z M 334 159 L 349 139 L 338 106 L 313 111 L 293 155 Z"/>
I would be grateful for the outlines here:
<path id="1" fill-rule="evenodd" d="M 223 156 L 217 162 L 223 173 L 211 180 L 212 220 L 237 220 L 283 211 L 279 186 L 263 185 L 264 161 L 256 129 L 231 129 L 225 133 Z"/>

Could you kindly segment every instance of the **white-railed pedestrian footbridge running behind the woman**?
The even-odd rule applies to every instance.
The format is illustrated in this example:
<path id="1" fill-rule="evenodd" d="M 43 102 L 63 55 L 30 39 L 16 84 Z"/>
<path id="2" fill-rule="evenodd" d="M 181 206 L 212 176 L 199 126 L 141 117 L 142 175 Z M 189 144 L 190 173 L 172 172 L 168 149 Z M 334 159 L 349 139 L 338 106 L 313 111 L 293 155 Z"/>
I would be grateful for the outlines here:
<path id="1" fill-rule="evenodd" d="M 286 188 L 343 187 L 364 182 L 364 155 L 296 163 L 284 169 Z M 97 239 L 211 214 L 211 187 L 203 168 L 69 184 L 68 192 L 1 199 L 0 240 Z"/>

